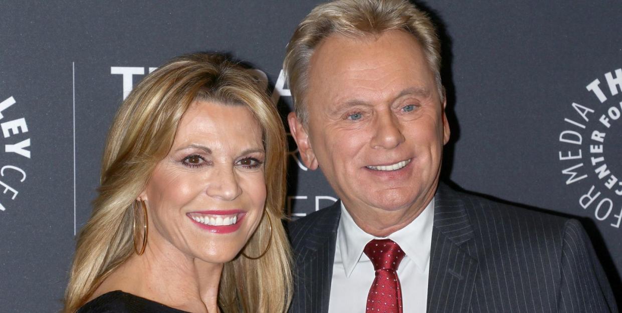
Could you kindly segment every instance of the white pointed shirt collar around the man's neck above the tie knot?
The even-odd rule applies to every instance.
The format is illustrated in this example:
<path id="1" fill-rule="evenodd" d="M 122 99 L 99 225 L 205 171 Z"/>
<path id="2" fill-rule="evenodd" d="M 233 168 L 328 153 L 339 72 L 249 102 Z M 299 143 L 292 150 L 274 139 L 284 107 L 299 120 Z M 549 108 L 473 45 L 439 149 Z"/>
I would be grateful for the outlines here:
<path id="1" fill-rule="evenodd" d="M 432 225 L 434 224 L 434 198 L 425 207 L 424 211 L 414 219 L 411 224 L 397 230 L 388 237 L 396 242 L 405 258 L 410 258 L 417 266 L 417 270 L 423 272 L 427 269 L 430 261 L 430 247 L 432 246 Z M 363 255 L 363 249 L 370 240 L 384 239 L 367 234 L 361 227 L 356 225 L 352 215 L 341 202 L 341 219 L 337 230 L 337 244 L 341 253 L 341 261 L 346 276 L 350 277 L 356 264 Z"/>

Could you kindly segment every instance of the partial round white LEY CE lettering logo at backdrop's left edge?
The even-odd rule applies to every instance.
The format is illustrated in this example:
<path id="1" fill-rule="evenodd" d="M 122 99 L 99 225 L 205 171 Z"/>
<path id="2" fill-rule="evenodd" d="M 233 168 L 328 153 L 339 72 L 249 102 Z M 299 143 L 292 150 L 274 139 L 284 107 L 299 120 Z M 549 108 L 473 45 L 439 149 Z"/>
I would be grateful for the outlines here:
<path id="1" fill-rule="evenodd" d="M 0 214 L 9 211 L 26 181 L 24 164 L 30 160 L 30 137 L 26 117 L 13 96 L 0 98 L 0 129 L 4 150 L 0 160 Z M 17 156 L 17 157 L 16 157 Z M 6 163 L 5 163 L 6 162 Z"/>

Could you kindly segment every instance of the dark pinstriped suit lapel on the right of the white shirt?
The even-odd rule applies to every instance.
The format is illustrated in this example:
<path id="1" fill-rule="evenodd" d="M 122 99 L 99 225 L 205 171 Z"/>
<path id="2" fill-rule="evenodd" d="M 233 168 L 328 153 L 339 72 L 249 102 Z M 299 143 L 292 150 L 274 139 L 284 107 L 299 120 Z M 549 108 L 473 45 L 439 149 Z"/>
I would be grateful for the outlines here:
<path id="1" fill-rule="evenodd" d="M 427 312 L 468 312 L 477 260 L 468 254 L 473 230 L 455 192 L 439 184 L 434 198 Z"/>

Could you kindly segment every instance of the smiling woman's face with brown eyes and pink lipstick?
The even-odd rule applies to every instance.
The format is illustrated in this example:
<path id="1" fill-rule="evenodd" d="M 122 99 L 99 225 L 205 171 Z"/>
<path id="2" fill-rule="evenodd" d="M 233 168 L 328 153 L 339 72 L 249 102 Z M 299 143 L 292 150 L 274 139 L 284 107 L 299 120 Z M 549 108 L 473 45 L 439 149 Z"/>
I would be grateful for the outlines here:
<path id="1" fill-rule="evenodd" d="M 195 101 L 139 197 L 147 204 L 147 249 L 210 263 L 238 255 L 266 201 L 261 138 L 246 106 Z"/>

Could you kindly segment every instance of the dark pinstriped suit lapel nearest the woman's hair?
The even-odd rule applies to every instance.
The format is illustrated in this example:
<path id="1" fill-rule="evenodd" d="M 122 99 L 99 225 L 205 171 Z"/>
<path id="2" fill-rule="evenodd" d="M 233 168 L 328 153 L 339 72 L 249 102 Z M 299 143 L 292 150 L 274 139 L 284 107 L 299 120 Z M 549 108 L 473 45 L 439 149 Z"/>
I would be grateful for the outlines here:
<path id="1" fill-rule="evenodd" d="M 296 266 L 302 290 L 298 297 L 304 301 L 301 312 L 328 312 L 330 299 L 330 283 L 333 276 L 333 262 L 335 261 L 335 244 L 337 242 L 337 227 L 341 217 L 341 202 L 322 209 L 325 214 L 310 229 L 305 232 L 304 247 L 301 247 L 296 256 Z M 303 296 L 304 295 L 304 296 Z"/>

